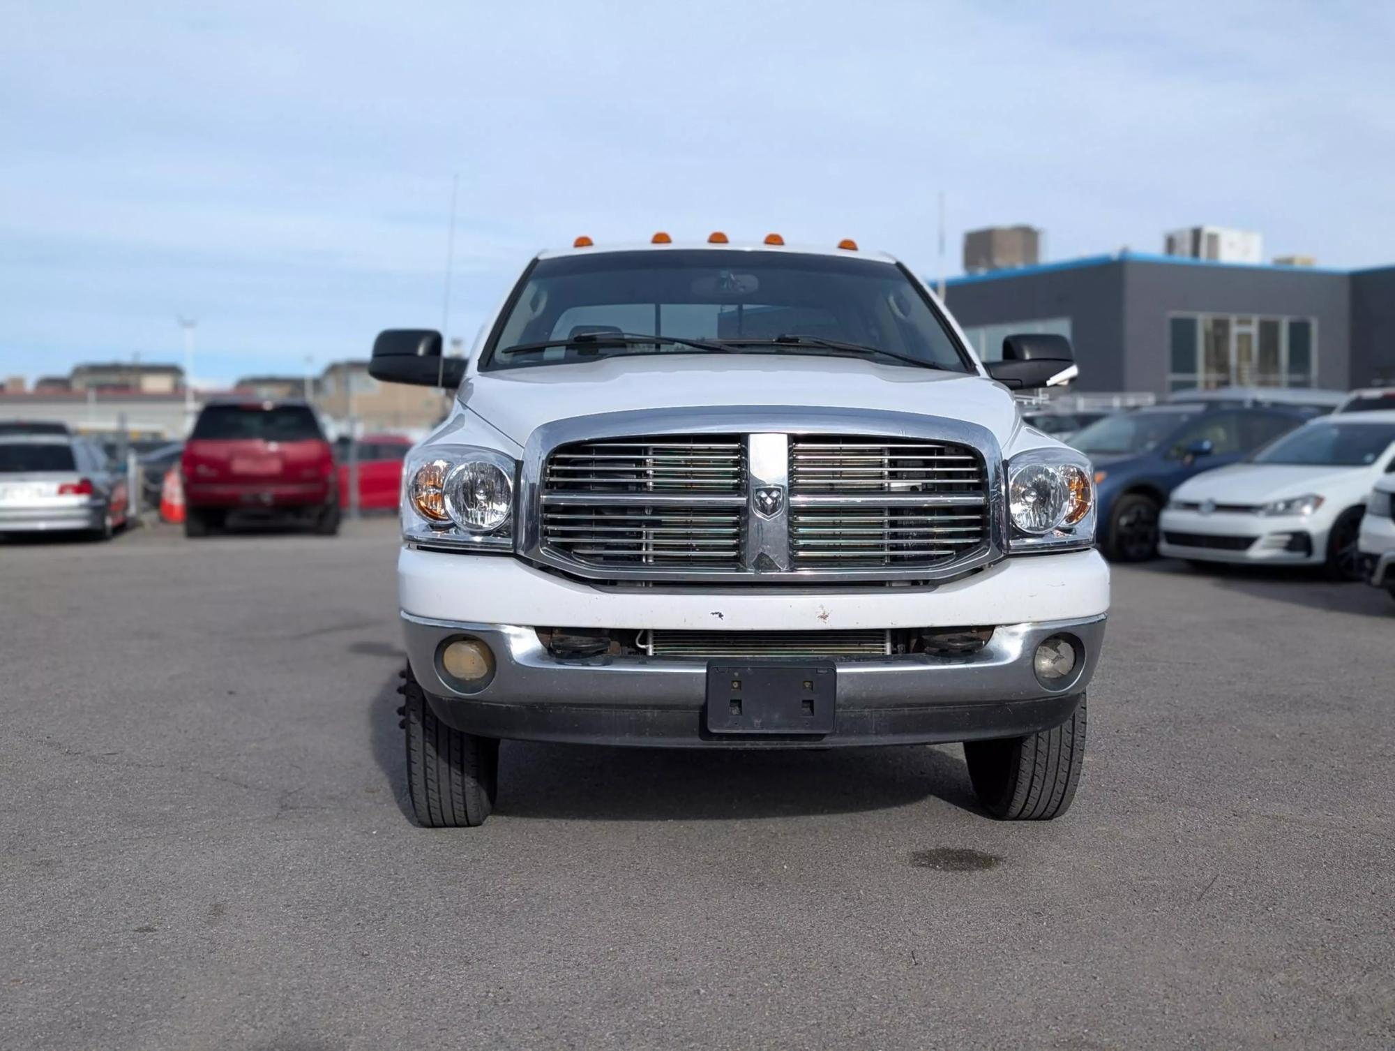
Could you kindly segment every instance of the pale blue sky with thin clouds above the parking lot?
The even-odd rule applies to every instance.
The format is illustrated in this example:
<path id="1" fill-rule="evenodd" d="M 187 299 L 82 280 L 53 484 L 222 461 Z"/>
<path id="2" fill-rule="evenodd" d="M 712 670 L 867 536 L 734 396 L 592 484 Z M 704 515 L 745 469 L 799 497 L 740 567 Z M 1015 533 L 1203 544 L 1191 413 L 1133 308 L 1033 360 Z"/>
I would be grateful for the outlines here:
<path id="1" fill-rule="evenodd" d="M 473 341 L 578 233 L 1395 262 L 1395 6 L 0 0 L 0 375 Z M 953 306 L 953 304 L 951 304 Z"/>

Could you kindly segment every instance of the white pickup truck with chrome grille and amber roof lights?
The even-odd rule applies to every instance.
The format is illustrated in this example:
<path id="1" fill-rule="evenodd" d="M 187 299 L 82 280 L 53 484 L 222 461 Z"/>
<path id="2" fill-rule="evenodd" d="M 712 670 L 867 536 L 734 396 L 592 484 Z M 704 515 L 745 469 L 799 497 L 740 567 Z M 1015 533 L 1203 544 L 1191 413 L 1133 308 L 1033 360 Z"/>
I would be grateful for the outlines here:
<path id="1" fill-rule="evenodd" d="M 467 359 L 384 332 L 379 380 L 459 388 L 403 470 L 407 776 L 494 808 L 501 740 L 963 741 L 996 818 L 1080 782 L 1109 569 L 1088 461 L 896 260 L 723 234 L 531 260 Z"/>

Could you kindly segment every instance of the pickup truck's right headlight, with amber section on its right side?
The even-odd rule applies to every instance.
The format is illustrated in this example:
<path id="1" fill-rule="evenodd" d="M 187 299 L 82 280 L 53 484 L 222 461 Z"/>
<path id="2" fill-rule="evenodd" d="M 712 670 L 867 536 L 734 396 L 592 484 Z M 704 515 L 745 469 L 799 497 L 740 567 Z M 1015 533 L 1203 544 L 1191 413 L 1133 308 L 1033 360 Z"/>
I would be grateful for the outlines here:
<path id="1" fill-rule="evenodd" d="M 1011 551 L 1064 550 L 1095 543 L 1095 484 L 1074 449 L 1031 449 L 1007 462 Z"/>

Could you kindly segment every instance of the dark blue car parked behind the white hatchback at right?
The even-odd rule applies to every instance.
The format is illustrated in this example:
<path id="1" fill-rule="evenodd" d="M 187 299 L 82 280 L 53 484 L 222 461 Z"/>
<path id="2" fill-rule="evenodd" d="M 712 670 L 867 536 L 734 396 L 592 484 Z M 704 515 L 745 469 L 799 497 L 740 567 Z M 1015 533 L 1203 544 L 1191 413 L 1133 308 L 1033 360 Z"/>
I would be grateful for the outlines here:
<path id="1" fill-rule="evenodd" d="M 1070 444 L 1095 465 L 1098 533 L 1105 557 L 1141 562 L 1158 554 L 1158 515 L 1193 475 L 1254 452 L 1311 417 L 1296 409 L 1158 405 L 1089 424 Z"/>

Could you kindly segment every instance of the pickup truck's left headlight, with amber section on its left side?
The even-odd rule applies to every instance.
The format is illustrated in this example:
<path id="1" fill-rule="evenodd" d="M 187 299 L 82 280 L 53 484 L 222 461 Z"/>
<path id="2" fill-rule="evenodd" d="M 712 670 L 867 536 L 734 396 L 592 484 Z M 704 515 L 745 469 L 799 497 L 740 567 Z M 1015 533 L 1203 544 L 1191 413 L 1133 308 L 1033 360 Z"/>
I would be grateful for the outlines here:
<path id="1" fill-rule="evenodd" d="M 472 445 L 413 449 L 402 472 L 402 536 L 432 547 L 513 550 L 518 463 Z"/>

